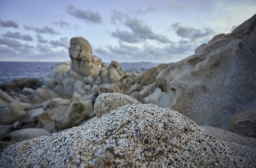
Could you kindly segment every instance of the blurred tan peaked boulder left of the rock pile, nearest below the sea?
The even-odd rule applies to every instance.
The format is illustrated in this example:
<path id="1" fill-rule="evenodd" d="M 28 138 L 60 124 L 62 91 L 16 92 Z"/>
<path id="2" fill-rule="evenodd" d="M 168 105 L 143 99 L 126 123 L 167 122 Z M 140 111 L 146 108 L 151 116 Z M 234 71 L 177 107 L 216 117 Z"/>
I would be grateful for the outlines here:
<path id="1" fill-rule="evenodd" d="M 40 88 L 37 88 L 36 91 L 32 94 L 32 102 L 34 103 L 42 103 L 49 99 L 52 99 L 54 97 L 60 97 L 57 93 L 54 91 L 51 91 L 46 86 L 42 86 Z"/>

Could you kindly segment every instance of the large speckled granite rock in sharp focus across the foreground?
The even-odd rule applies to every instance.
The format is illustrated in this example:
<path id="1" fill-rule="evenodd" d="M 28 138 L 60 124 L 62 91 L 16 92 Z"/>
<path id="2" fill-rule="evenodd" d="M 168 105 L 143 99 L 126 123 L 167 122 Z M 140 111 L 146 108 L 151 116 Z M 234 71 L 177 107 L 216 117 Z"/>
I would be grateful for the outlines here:
<path id="1" fill-rule="evenodd" d="M 252 156 L 253 157 L 253 156 Z M 184 115 L 132 104 L 97 121 L 5 148 L 0 167 L 253 167 Z"/>

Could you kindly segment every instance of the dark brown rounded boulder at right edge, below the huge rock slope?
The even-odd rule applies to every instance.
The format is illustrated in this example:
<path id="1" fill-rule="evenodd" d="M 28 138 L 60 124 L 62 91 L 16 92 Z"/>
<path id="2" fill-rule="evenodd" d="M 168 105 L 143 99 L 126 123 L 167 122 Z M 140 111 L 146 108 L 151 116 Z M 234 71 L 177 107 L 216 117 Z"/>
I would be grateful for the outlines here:
<path id="1" fill-rule="evenodd" d="M 239 135 L 256 138 L 256 107 L 232 117 L 228 130 Z"/>

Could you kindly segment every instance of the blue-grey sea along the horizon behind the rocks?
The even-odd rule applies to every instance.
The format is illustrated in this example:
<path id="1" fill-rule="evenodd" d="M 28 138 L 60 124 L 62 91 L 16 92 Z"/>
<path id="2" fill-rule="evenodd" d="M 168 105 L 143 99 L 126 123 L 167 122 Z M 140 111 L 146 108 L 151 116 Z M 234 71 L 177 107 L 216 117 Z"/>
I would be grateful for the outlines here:
<path id="1" fill-rule="evenodd" d="M 47 76 L 51 72 L 52 66 L 59 63 L 61 62 L 0 62 L 0 86 L 13 79 Z M 106 65 L 109 64 L 106 62 Z M 146 71 L 159 65 L 150 62 L 121 62 L 119 64 L 121 69 L 127 72 L 137 69 Z"/>

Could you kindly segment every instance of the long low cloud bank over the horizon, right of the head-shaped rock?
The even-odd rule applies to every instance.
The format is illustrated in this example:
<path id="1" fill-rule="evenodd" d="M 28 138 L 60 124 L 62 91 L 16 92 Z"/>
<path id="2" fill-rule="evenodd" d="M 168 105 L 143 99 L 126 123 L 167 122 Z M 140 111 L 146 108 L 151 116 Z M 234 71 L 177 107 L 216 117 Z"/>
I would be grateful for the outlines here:
<path id="1" fill-rule="evenodd" d="M 132 62 L 136 60 L 149 62 L 176 62 L 194 53 L 198 44 L 191 41 L 181 40 L 170 42 L 164 47 L 144 43 L 144 46 L 131 46 L 119 42 L 119 46 L 106 46 L 106 48 L 93 49 L 94 53 L 103 60 L 117 60 L 122 62 Z"/>

